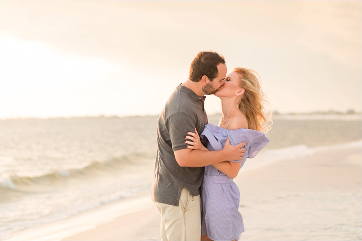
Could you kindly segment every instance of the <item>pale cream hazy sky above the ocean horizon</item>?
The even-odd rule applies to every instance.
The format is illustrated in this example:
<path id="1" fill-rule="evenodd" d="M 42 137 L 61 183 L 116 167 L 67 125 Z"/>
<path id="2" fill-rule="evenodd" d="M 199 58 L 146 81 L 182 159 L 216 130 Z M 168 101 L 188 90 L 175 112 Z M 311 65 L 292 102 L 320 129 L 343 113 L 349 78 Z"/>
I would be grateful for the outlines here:
<path id="1" fill-rule="evenodd" d="M 0 6 L 1 118 L 159 114 L 209 50 L 257 71 L 274 110 L 361 111 L 361 1 Z"/>

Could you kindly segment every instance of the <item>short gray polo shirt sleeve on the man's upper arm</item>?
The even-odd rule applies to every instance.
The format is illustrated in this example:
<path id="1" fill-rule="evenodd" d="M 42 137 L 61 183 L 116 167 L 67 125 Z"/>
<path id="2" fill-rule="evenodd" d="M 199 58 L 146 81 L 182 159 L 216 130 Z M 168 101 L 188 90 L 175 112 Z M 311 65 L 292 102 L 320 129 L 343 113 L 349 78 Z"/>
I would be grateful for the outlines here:
<path id="1" fill-rule="evenodd" d="M 185 136 L 188 131 L 195 132 L 197 119 L 194 115 L 180 111 L 173 113 L 168 119 L 168 130 L 170 133 L 172 150 L 186 149 Z"/>

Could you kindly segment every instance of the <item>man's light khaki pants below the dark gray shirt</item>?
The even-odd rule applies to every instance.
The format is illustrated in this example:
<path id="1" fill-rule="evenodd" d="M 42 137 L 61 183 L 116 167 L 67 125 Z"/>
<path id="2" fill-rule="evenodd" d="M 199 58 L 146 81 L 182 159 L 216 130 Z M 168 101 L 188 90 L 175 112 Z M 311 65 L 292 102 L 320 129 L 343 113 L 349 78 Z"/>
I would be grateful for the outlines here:
<path id="1" fill-rule="evenodd" d="M 201 198 L 182 188 L 178 206 L 155 202 L 161 214 L 161 240 L 200 240 Z"/>

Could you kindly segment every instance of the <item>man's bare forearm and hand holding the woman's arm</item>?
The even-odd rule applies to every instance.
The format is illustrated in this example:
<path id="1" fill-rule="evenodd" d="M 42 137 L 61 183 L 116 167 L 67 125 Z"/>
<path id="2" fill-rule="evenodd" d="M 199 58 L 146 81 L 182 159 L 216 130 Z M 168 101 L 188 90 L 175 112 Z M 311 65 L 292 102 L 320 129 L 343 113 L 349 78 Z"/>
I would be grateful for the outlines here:
<path id="1" fill-rule="evenodd" d="M 174 152 L 176 161 L 181 167 L 204 167 L 222 161 L 233 161 L 243 159 L 245 148 L 241 148 L 245 143 L 235 146 L 230 144 L 229 138 L 222 150 L 206 151 L 192 150 L 189 148 L 176 150 Z"/>

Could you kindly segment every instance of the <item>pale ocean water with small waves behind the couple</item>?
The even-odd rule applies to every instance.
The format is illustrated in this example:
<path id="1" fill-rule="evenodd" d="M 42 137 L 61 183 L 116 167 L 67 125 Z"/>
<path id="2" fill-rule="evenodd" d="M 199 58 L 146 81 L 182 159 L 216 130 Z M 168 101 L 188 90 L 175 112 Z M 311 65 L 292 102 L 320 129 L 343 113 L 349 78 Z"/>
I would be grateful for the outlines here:
<path id="1" fill-rule="evenodd" d="M 150 189 L 157 118 L 1 120 L 1 240 Z M 267 136 L 242 172 L 313 148 L 361 145 L 361 118 L 274 118 Z"/>

